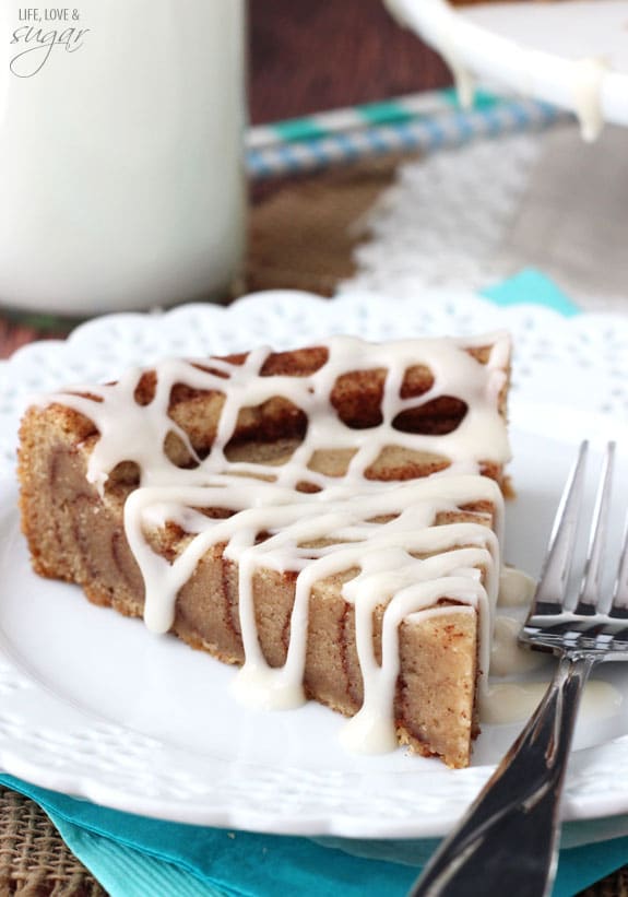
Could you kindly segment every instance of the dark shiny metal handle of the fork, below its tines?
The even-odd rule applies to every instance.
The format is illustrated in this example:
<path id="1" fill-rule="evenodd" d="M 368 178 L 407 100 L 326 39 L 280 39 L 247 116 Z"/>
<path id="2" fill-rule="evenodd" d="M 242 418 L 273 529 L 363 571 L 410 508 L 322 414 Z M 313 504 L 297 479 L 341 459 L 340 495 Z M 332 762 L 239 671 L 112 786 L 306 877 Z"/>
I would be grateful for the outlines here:
<path id="1" fill-rule="evenodd" d="M 547 692 L 410 897 L 542 897 L 557 865 L 558 804 L 595 658 L 561 657 Z"/>

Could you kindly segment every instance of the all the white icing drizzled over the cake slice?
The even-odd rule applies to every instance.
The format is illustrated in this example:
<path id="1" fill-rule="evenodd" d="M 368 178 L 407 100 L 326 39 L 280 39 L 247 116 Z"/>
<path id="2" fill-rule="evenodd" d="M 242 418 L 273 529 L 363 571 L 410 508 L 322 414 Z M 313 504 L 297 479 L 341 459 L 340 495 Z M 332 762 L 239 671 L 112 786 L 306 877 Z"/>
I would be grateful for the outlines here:
<path id="1" fill-rule="evenodd" d="M 225 556 L 237 563 L 239 577 L 246 658 L 234 685 L 239 699 L 268 708 L 303 703 L 312 589 L 328 577 L 358 571 L 344 583 L 342 594 L 355 606 L 364 704 L 345 727 L 342 740 L 352 750 L 391 750 L 396 745 L 393 705 L 403 621 L 414 615 L 476 613 L 482 687 L 486 688 L 499 585 L 502 498 L 497 484 L 478 473 L 483 462 L 502 464 L 510 457 L 498 409 L 510 341 L 503 333 L 475 340 L 382 344 L 334 337 L 320 345 L 327 349 L 328 361 L 309 376 L 262 376 L 270 354 L 262 349 L 251 352 L 241 365 L 216 358 L 165 361 L 155 368 L 155 394 L 147 404 L 135 400 L 142 377 L 138 369 L 117 383 L 74 387 L 44 401 L 72 408 L 94 422 L 99 438 L 88 458 L 87 476 L 100 495 L 120 462 L 139 465 L 140 487 L 126 501 L 125 528 L 144 579 L 149 628 L 156 633 L 170 629 L 178 592 L 203 555 L 213 545 L 226 544 Z M 487 345 L 491 346 L 487 364 L 469 354 L 473 346 Z M 211 366 L 215 373 L 198 365 Z M 422 396 L 403 399 L 404 375 L 417 365 L 430 369 L 434 383 Z M 375 368 L 387 371 L 382 423 L 368 429 L 351 428 L 331 403 L 333 387 L 345 374 Z M 173 388 L 181 383 L 225 397 L 215 439 L 202 461 L 168 414 Z M 229 462 L 225 448 L 241 409 L 277 396 L 307 414 L 304 441 L 279 465 Z M 454 432 L 417 435 L 394 427 L 400 413 L 441 396 L 453 396 L 467 408 Z M 164 442 L 169 433 L 182 440 L 197 467 L 181 469 L 167 458 Z M 403 484 L 367 480 L 365 472 L 390 446 L 438 455 L 449 467 L 439 475 Z M 310 470 L 315 451 L 339 448 L 355 452 L 344 476 Z M 321 491 L 297 492 L 303 481 Z M 485 524 L 490 520 L 436 526 L 440 514 L 484 501 L 495 509 L 495 531 Z M 234 514 L 210 518 L 200 512 L 202 508 Z M 147 538 L 168 521 L 178 523 L 189 536 L 171 563 L 151 547 Z M 262 533 L 263 541 L 259 541 Z M 280 669 L 268 664 L 258 637 L 253 579 L 263 569 L 297 574 L 287 657 Z M 460 603 L 437 606 L 442 599 Z M 381 663 L 372 637 L 372 614 L 379 605 L 383 605 Z"/>

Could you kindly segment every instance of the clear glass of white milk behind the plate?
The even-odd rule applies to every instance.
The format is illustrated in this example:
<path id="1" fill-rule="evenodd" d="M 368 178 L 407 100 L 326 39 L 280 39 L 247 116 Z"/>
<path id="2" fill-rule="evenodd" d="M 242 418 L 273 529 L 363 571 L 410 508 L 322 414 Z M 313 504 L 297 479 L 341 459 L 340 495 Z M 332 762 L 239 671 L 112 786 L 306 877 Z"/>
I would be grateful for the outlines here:
<path id="1" fill-rule="evenodd" d="M 0 305 L 218 297 L 242 256 L 242 0 L 0 0 Z"/>

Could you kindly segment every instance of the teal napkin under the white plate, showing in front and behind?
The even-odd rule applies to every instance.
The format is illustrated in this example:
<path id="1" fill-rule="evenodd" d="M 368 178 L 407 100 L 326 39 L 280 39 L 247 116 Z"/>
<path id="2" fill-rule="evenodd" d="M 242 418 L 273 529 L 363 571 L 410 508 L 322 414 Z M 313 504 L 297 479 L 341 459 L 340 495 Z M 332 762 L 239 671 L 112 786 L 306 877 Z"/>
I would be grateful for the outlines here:
<path id="1" fill-rule="evenodd" d="M 558 286 L 534 269 L 483 294 L 496 305 L 532 302 L 566 316 L 578 314 Z M 0 776 L 0 783 L 46 811 L 111 897 L 402 897 L 438 845 L 433 839 L 313 839 L 182 825 L 107 810 L 11 776 Z M 572 897 L 626 862 L 626 837 L 561 850 L 554 897 Z"/>

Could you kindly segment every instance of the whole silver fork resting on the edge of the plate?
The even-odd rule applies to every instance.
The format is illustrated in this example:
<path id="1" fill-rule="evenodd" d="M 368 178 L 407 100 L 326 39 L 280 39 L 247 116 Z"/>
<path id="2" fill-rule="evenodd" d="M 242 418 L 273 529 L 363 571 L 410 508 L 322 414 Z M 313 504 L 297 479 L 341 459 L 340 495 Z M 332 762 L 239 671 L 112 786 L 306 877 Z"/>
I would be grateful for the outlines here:
<path id="1" fill-rule="evenodd" d="M 562 493 L 541 580 L 520 640 L 559 657 L 530 722 L 411 897 L 542 897 L 558 858 L 559 800 L 583 686 L 596 663 L 628 660 L 628 527 L 614 589 L 601 588 L 615 445 L 606 449 L 580 591 L 569 589 L 588 444 Z M 570 599 L 576 598 L 576 601 Z"/>

